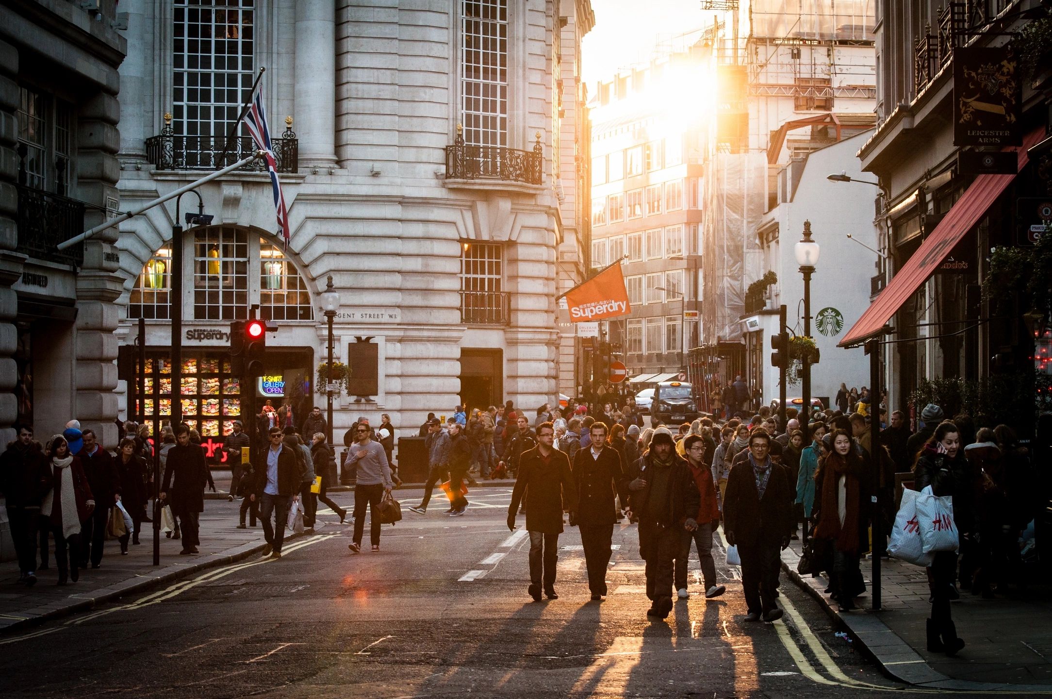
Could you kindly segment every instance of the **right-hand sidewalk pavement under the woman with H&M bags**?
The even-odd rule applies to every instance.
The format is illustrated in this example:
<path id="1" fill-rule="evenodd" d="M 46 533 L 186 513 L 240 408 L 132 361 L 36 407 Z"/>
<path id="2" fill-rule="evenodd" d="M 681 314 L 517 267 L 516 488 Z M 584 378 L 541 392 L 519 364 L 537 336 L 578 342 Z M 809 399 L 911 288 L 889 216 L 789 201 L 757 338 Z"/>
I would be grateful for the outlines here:
<path id="1" fill-rule="evenodd" d="M 929 653 L 925 621 L 931 611 L 928 577 L 923 567 L 896 559 L 881 561 L 879 612 L 872 606 L 872 562 L 862 561 L 866 594 L 859 608 L 839 612 L 823 591 L 829 584 L 796 573 L 802 541 L 782 552 L 782 566 L 796 584 L 811 594 L 826 612 L 843 622 L 885 674 L 903 682 L 957 691 L 1052 691 L 1052 599 L 1045 585 L 1012 596 L 983 599 L 960 591 L 952 603 L 957 635 L 967 645 L 956 657 Z"/>

